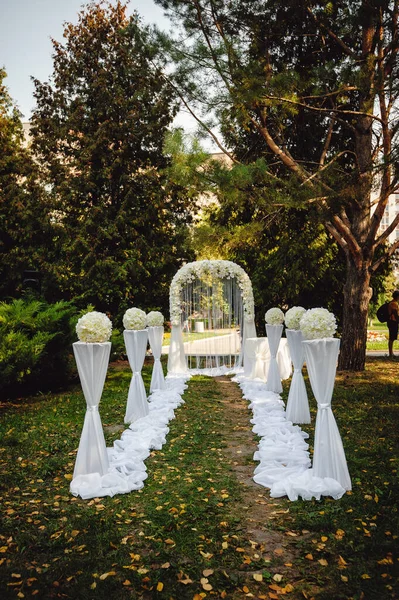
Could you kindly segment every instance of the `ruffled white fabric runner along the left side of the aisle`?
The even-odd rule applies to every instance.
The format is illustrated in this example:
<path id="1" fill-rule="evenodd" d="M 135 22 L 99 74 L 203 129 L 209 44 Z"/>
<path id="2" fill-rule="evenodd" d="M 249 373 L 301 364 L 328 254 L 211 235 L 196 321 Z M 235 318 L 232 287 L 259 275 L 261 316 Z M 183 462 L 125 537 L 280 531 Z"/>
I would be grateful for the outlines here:
<path id="1" fill-rule="evenodd" d="M 175 417 L 174 409 L 184 404 L 182 395 L 189 377 L 166 377 L 166 389 L 157 390 L 148 398 L 149 414 L 132 423 L 120 440 L 115 441 L 112 448 L 107 448 L 108 472 L 103 476 L 90 473 L 75 477 L 70 486 L 74 496 L 87 500 L 125 494 L 144 486 L 147 479 L 144 461 L 151 450 L 160 450 L 166 442 L 168 423 Z"/>

